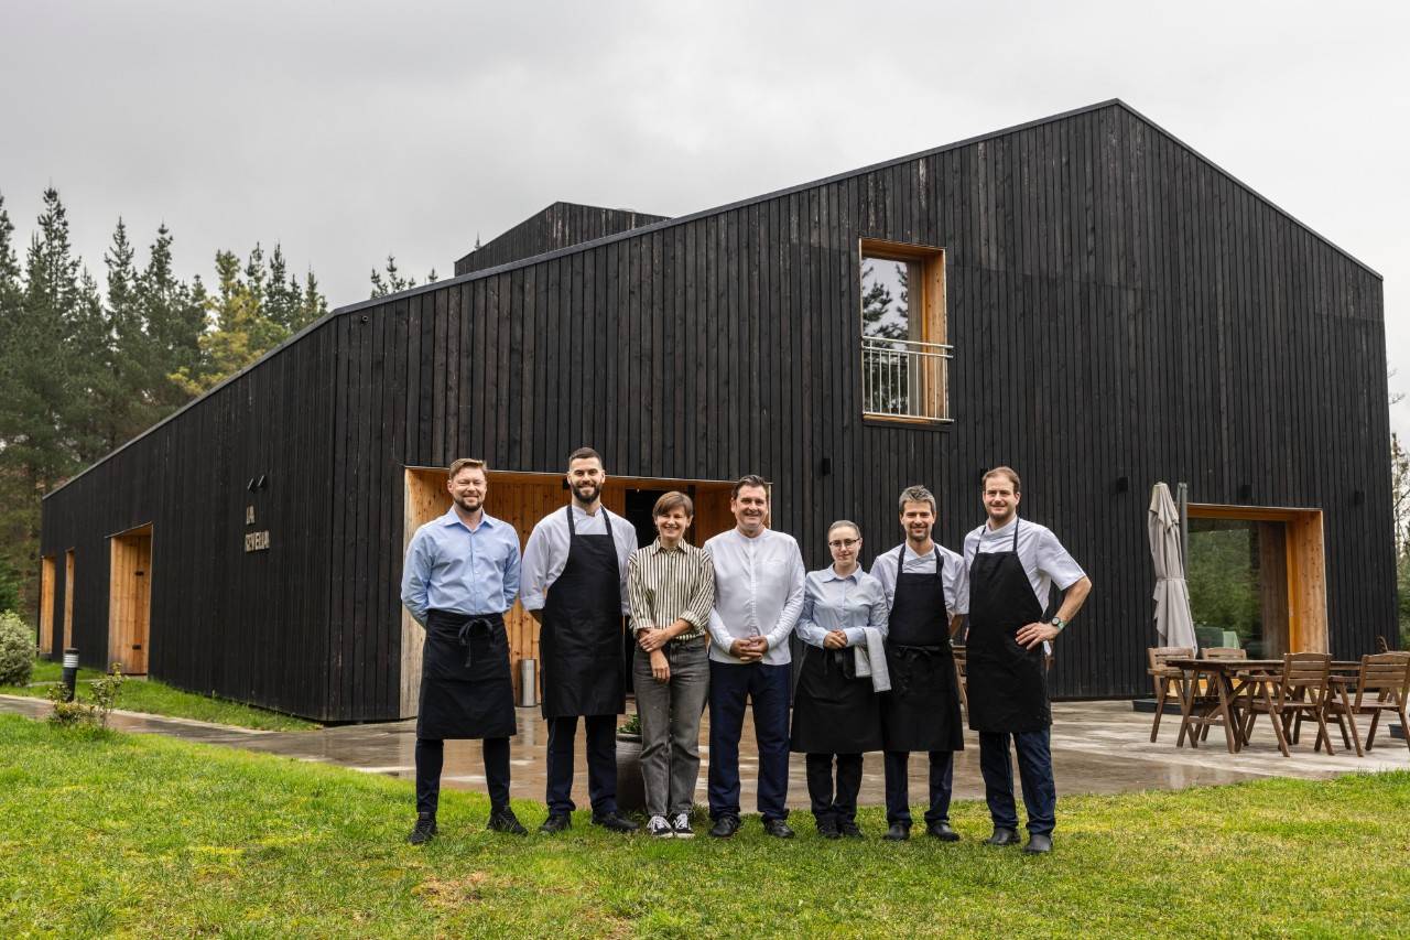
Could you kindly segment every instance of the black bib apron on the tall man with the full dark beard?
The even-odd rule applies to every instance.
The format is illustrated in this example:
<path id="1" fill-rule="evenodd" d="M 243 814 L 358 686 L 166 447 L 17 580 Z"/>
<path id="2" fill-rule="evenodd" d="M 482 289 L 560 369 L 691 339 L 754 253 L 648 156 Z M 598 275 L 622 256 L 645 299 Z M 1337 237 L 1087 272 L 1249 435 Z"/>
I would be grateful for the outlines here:
<path id="1" fill-rule="evenodd" d="M 612 517 L 606 535 L 578 535 L 568 514 L 568 563 L 548 587 L 539 631 L 543 717 L 623 714 L 622 574 Z"/>

